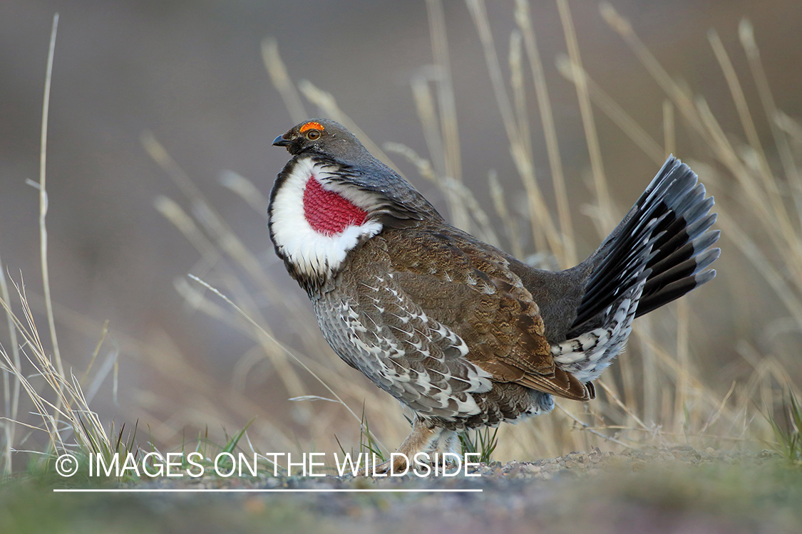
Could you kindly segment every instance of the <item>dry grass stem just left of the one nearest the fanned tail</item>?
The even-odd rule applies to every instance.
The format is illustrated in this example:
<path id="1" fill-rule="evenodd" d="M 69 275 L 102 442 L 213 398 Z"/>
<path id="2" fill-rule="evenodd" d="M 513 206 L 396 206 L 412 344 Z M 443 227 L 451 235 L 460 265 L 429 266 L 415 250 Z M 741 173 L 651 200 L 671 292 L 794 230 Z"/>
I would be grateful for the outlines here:
<path id="1" fill-rule="evenodd" d="M 546 152 L 549 155 L 549 170 L 552 175 L 554 197 L 557 201 L 557 220 L 560 222 L 560 232 L 565 247 L 564 267 L 571 267 L 578 262 L 576 236 L 573 233 L 568 193 L 565 191 L 565 175 L 562 170 L 562 158 L 560 146 L 557 142 L 557 128 L 554 126 L 549 87 L 546 85 L 546 78 L 543 74 L 543 62 L 541 61 L 540 50 L 537 48 L 537 39 L 532 26 L 532 18 L 529 15 L 529 2 L 527 0 L 516 0 L 515 19 L 521 34 L 524 36 L 529 68 L 532 70 L 532 78 L 535 83 L 537 108 L 541 115 Z"/>

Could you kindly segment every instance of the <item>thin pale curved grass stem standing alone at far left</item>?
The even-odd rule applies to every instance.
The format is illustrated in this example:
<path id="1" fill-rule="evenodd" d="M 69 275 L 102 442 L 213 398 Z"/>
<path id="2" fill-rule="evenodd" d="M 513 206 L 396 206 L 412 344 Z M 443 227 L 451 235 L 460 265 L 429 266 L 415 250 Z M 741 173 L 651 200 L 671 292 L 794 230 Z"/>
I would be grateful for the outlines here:
<path id="1" fill-rule="evenodd" d="M 51 30 L 50 47 L 47 50 L 47 75 L 45 76 L 45 96 L 42 104 L 42 143 L 39 151 L 39 239 L 41 242 L 42 283 L 44 287 L 45 303 L 47 307 L 47 324 L 50 327 L 51 343 L 53 344 L 53 358 L 59 374 L 64 375 L 59 351 L 59 339 L 55 332 L 55 319 L 53 317 L 53 300 L 50 289 L 50 270 L 47 267 L 47 117 L 50 112 L 51 82 L 53 80 L 53 57 L 55 55 L 55 34 L 59 29 L 59 14 L 53 15 L 53 29 Z"/>

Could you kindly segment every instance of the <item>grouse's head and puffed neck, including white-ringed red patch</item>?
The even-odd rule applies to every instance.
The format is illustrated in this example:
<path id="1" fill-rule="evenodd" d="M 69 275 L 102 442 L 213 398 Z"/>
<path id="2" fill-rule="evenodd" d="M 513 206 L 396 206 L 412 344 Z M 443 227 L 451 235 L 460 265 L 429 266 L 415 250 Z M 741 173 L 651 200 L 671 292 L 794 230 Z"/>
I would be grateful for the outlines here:
<path id="1" fill-rule="evenodd" d="M 273 145 L 286 147 L 293 158 L 270 193 L 270 237 L 287 271 L 310 295 L 337 274 L 350 251 L 380 231 L 443 220 L 337 122 L 302 122 Z"/>

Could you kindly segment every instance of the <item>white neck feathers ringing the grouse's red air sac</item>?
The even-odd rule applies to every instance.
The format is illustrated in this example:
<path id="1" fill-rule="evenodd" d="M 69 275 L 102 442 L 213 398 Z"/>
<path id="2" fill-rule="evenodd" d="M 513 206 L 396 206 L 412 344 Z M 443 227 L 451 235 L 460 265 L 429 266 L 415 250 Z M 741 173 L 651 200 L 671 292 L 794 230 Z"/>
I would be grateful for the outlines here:
<path id="1" fill-rule="evenodd" d="M 335 191 L 334 187 L 327 184 L 329 175 L 311 159 L 299 159 L 286 182 L 276 192 L 273 202 L 272 224 L 276 244 L 298 271 L 306 275 L 330 275 L 346 259 L 348 251 L 357 246 L 359 239 L 371 237 L 382 230 L 382 224 L 378 221 L 347 227 L 335 235 L 323 235 L 310 226 L 303 210 L 303 194 L 310 178 L 317 179 L 324 189 L 342 195 L 358 207 L 369 207 L 365 205 L 370 202 L 368 195 L 360 191 L 345 191 L 342 187 L 337 187 Z"/>

